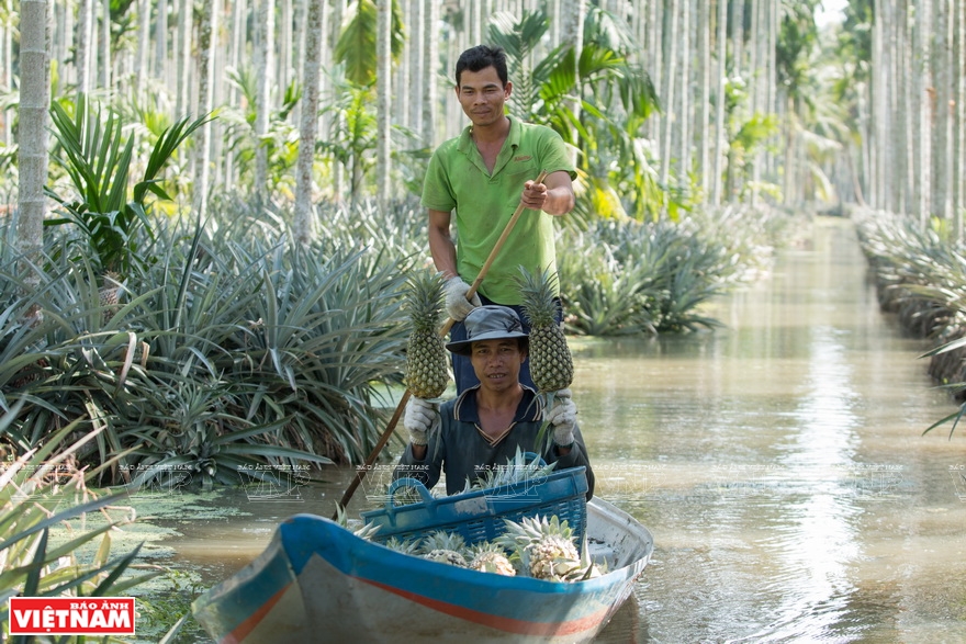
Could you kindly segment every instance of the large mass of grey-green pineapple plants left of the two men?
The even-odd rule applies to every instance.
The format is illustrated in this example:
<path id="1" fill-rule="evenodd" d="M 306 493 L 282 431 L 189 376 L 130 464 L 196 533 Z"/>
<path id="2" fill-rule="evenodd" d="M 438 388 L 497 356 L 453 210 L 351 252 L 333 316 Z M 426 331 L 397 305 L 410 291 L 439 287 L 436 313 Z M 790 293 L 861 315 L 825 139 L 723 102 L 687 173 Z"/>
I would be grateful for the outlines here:
<path id="1" fill-rule="evenodd" d="M 310 248 L 283 216 L 218 202 L 206 225 L 161 222 L 138 239 L 156 258 L 126 296 L 100 303 L 93 265 L 68 263 L 24 296 L 14 256 L 0 258 L 0 394 L 30 405 L 4 434 L 20 453 L 54 428 L 102 429 L 78 454 L 109 482 L 199 485 L 250 478 L 256 464 L 359 462 L 379 439 L 379 383 L 402 375 L 404 275 L 425 218 L 413 210 L 333 208 Z M 9 262 L 9 263 L 8 263 Z M 41 316 L 23 319 L 36 307 Z M 170 479 L 170 477 L 168 477 Z"/>

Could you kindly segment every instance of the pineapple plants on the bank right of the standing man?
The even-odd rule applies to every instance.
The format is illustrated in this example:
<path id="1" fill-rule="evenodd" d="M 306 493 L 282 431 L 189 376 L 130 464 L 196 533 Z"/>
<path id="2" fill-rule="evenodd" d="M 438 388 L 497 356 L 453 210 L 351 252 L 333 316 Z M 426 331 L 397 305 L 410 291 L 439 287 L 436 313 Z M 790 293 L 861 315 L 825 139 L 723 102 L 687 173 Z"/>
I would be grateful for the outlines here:
<path id="1" fill-rule="evenodd" d="M 775 244 L 774 214 L 732 210 L 669 221 L 598 221 L 558 239 L 568 330 L 588 336 L 693 331 L 719 323 L 709 298 L 750 278 Z"/>

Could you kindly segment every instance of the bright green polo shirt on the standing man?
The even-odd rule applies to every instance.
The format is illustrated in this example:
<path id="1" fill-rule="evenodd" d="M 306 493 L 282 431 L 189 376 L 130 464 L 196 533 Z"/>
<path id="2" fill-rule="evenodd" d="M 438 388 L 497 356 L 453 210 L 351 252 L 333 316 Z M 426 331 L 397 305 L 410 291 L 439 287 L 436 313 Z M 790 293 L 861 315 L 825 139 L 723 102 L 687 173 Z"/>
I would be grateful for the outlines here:
<path id="1" fill-rule="evenodd" d="M 524 183 L 536 179 L 540 170 L 565 170 L 572 179 L 576 177 L 559 134 L 513 117 L 491 174 L 470 136 L 471 128 L 467 126 L 460 136 L 436 149 L 423 184 L 424 207 L 456 211 L 457 270 L 467 283 L 472 283 L 486 263 L 520 203 Z M 520 265 L 531 273 L 548 268 L 557 271 L 552 219 L 542 211 L 523 213 L 490 267 L 480 293 L 498 304 L 520 304 L 515 282 Z"/>

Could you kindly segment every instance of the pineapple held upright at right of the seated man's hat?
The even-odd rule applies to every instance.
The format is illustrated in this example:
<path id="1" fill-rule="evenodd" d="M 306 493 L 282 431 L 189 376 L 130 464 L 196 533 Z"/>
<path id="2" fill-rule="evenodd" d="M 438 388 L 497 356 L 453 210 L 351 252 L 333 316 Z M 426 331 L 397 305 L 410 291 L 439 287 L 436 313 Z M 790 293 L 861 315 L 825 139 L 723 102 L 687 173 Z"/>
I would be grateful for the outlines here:
<path id="1" fill-rule="evenodd" d="M 573 381 L 573 357 L 563 329 L 557 324 L 554 284 L 557 274 L 543 271 L 533 275 L 520 267 L 524 315 L 530 324 L 530 375 L 540 393 L 565 389 Z"/>

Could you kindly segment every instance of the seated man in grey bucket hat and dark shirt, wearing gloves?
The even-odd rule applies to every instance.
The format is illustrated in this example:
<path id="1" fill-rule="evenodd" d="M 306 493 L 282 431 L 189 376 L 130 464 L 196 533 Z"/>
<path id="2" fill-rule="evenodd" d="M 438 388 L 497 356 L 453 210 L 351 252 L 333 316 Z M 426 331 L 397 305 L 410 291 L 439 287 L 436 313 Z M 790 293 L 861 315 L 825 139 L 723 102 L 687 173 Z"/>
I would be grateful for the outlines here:
<path id="1" fill-rule="evenodd" d="M 480 306 L 467 316 L 465 327 L 468 339 L 446 348 L 470 358 L 480 384 L 438 410 L 423 398 L 409 399 L 403 418 L 409 444 L 393 477 L 409 476 L 431 488 L 446 472 L 447 494 L 459 494 L 468 477 L 472 482 L 487 470 L 506 466 L 519 447 L 557 463 L 554 471 L 586 466 L 589 499 L 594 473 L 570 389 L 558 392 L 544 410 L 537 393 L 519 382 L 528 349 L 519 316 L 505 306 Z M 541 437 L 543 444 L 538 445 L 544 420 L 550 421 L 553 440 Z"/>

